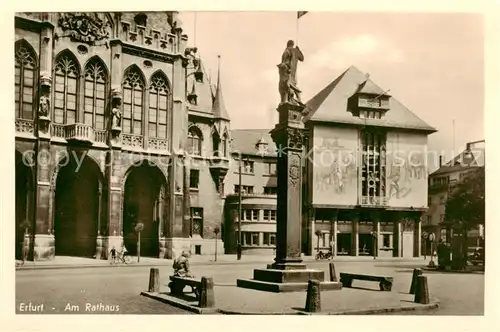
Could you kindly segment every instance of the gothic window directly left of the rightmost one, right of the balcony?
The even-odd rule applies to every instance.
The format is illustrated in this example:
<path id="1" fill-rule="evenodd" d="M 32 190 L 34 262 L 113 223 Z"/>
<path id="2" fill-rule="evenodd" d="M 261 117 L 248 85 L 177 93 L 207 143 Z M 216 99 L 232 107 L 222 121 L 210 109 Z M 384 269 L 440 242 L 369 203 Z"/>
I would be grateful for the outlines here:
<path id="1" fill-rule="evenodd" d="M 144 79 L 138 68 L 126 71 L 123 80 L 123 133 L 142 135 L 144 87 Z"/>

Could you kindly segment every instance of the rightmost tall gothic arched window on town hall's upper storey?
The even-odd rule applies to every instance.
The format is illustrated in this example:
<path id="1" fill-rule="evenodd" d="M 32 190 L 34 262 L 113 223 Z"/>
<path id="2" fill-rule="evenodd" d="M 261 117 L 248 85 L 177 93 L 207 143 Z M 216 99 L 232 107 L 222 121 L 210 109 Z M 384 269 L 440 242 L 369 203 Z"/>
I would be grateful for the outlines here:
<path id="1" fill-rule="evenodd" d="M 167 78 L 156 73 L 149 87 L 149 136 L 167 138 L 170 87 Z"/>

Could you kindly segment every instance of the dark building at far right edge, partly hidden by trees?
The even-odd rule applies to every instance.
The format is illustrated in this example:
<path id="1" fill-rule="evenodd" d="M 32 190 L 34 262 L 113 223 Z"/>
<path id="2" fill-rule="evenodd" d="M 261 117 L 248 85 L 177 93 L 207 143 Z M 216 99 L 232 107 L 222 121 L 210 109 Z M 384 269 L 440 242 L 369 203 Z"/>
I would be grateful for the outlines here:
<path id="1" fill-rule="evenodd" d="M 439 158 L 439 168 L 429 175 L 429 209 L 424 216 L 423 230 L 428 234 L 434 233 L 436 241 L 450 243 L 450 229 L 447 229 L 441 223 L 444 221 L 446 213 L 446 201 L 450 189 L 454 185 L 474 172 L 480 167 L 485 166 L 485 141 L 468 142 L 465 149 L 450 161 L 443 163 L 442 156 Z M 484 238 L 484 229 L 480 226 L 478 229 L 469 231 L 469 246 L 479 246 L 481 239 Z M 426 250 L 430 252 L 429 244 Z"/>

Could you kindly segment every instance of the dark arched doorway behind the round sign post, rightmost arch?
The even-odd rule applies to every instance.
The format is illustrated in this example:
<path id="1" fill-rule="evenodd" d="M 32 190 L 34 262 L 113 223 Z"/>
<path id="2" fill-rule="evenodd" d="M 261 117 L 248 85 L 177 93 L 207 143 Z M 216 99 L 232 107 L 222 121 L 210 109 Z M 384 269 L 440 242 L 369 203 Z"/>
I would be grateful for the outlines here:
<path id="1" fill-rule="evenodd" d="M 158 167 L 147 164 L 133 167 L 127 176 L 123 201 L 123 242 L 131 255 L 137 254 L 134 227 L 142 222 L 141 256 L 159 257 L 165 185 L 165 177 Z"/>

